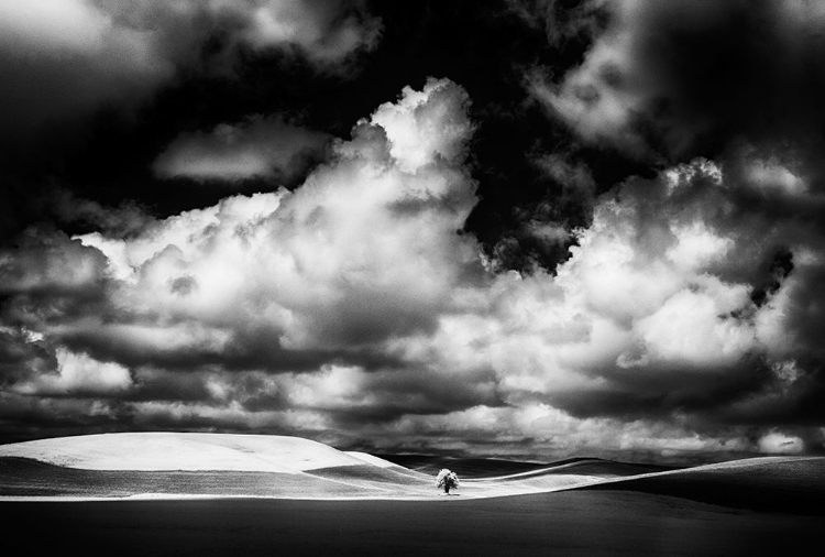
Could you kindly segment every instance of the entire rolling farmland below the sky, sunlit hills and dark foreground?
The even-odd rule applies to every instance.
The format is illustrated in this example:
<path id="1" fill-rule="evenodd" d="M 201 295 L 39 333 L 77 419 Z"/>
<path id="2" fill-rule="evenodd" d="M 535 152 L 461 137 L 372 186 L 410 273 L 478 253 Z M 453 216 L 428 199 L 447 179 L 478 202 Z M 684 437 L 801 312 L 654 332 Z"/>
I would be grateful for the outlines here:
<path id="1" fill-rule="evenodd" d="M 8 547 L 127 556 L 793 555 L 816 547 L 825 526 L 825 459 L 814 457 L 688 469 L 575 459 L 493 461 L 485 470 L 479 460 L 475 478 L 464 468 L 458 494 L 442 496 L 424 466 L 334 455 L 312 441 L 290 441 L 287 451 L 277 438 L 222 440 L 270 462 L 239 457 L 224 459 L 223 470 L 198 469 L 208 461 L 151 470 L 163 466 L 152 466 L 150 439 L 140 469 L 129 470 L 111 458 L 128 452 L 122 439 L 101 436 L 77 449 L 72 458 L 87 468 L 55 463 L 72 452 L 61 444 L 1 446 Z M 257 452 L 241 450 L 245 441 Z"/>

